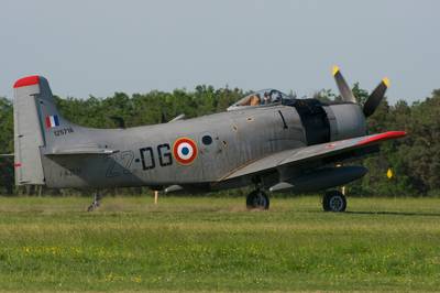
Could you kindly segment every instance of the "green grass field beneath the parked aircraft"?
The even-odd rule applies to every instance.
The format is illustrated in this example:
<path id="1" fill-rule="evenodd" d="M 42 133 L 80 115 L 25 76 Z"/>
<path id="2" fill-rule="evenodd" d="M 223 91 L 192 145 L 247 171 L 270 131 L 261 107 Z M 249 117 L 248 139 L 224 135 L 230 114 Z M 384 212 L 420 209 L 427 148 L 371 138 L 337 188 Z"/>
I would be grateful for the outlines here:
<path id="1" fill-rule="evenodd" d="M 1 291 L 436 291 L 440 198 L 0 197 Z"/>

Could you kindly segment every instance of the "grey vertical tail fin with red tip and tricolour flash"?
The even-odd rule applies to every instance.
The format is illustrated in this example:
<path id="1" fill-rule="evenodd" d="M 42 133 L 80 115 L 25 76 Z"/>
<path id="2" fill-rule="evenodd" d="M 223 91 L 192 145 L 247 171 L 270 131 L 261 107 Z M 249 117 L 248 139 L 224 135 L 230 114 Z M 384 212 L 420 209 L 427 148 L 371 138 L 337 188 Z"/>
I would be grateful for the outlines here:
<path id="1" fill-rule="evenodd" d="M 13 87 L 15 184 L 45 184 L 41 148 L 51 145 L 54 129 L 72 124 L 56 109 L 46 78 L 28 76 Z"/>

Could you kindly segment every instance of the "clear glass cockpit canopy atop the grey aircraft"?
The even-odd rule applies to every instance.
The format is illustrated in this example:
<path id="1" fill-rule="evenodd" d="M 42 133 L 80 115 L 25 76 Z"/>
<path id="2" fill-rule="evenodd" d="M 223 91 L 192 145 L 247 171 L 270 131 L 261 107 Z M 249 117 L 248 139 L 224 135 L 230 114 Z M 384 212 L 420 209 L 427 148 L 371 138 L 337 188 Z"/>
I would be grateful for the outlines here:
<path id="1" fill-rule="evenodd" d="M 263 107 L 280 105 L 284 100 L 292 100 L 294 97 L 287 96 L 277 89 L 262 89 L 245 96 L 238 102 L 228 108 L 228 111 L 244 109 L 248 107 Z"/>

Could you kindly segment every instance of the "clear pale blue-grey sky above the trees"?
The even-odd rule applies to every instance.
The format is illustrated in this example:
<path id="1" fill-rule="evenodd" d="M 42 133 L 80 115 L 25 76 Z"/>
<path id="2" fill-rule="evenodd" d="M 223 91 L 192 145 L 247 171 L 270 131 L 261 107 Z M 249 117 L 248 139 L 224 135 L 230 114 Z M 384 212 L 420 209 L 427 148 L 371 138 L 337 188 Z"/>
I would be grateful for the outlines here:
<path id="1" fill-rule="evenodd" d="M 440 1 L 2 0 L 0 96 L 45 76 L 62 97 L 173 90 L 337 91 L 391 79 L 388 100 L 440 88 Z"/>

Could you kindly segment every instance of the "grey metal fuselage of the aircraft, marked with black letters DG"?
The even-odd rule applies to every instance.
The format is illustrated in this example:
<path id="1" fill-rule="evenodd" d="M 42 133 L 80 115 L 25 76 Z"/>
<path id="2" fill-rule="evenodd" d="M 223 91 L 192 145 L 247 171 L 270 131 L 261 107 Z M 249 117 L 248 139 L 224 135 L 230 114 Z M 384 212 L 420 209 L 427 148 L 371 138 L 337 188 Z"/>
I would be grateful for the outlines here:
<path id="1" fill-rule="evenodd" d="M 53 145 L 63 149 L 80 141 L 116 152 L 51 156 L 45 153 L 53 150 L 42 146 L 45 184 L 97 188 L 180 185 L 204 189 L 246 185 L 249 178 L 230 184 L 222 178 L 275 152 L 365 134 L 365 120 L 358 105 L 320 108 L 323 113 L 319 117 L 307 112 L 306 118 L 296 106 L 277 105 L 129 129 L 75 126 L 74 132 L 54 137 Z M 211 143 L 204 143 L 206 135 Z M 190 164 L 180 164 L 173 153 L 179 138 L 196 143 L 197 156 Z"/>

